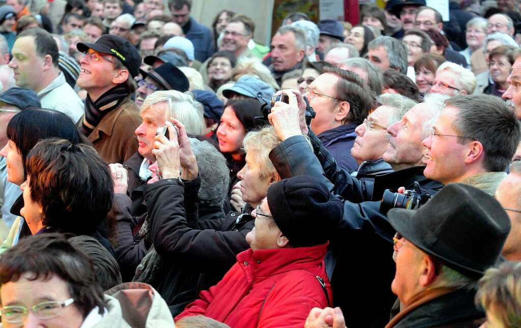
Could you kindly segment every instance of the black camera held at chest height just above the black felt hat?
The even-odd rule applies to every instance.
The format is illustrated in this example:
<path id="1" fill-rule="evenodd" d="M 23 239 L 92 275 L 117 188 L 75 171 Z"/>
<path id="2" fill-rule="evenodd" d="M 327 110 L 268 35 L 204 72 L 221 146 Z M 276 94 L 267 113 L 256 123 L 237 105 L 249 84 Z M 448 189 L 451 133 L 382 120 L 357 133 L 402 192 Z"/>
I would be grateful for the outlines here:
<path id="1" fill-rule="evenodd" d="M 387 214 L 391 208 L 418 209 L 430 198 L 431 195 L 425 189 L 421 189 L 417 181 L 414 181 L 413 190 L 405 190 L 403 193 L 386 189 L 383 191 L 380 213 Z"/>

